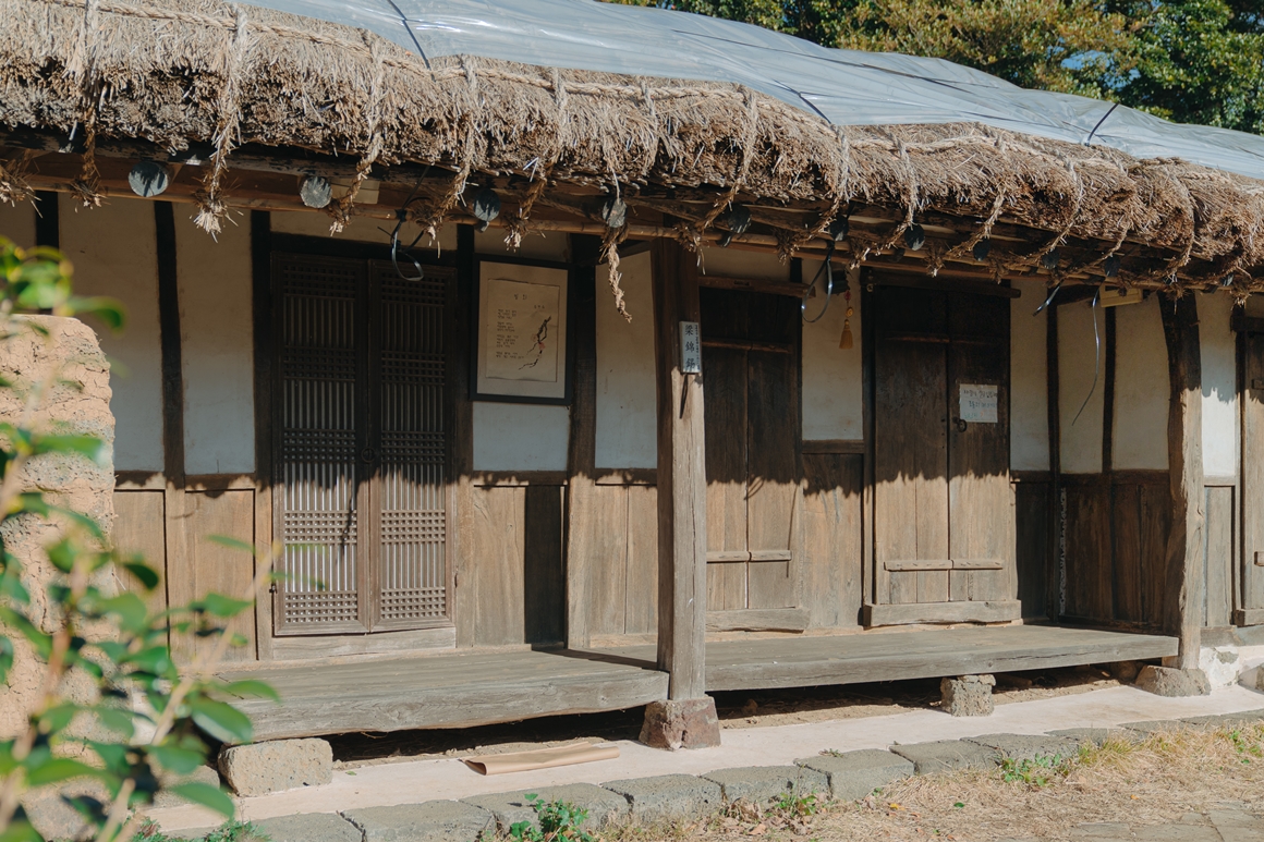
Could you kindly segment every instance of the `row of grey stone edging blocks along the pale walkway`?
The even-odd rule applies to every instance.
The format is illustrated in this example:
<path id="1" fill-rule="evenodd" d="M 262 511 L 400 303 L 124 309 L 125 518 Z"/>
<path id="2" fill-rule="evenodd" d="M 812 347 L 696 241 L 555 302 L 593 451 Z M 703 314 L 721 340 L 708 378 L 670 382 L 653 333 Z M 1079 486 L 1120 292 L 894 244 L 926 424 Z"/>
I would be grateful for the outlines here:
<path id="1" fill-rule="evenodd" d="M 527 791 L 544 800 L 569 800 L 589 809 L 589 827 L 626 822 L 698 821 L 741 799 L 771 800 L 785 791 L 811 793 L 856 800 L 872 790 L 915 774 L 945 769 L 988 769 L 1004 760 L 1025 760 L 1045 750 L 1073 748 L 1083 741 L 1105 742 L 1111 736 L 1143 740 L 1160 729 L 1218 728 L 1264 722 L 1264 709 L 1215 716 L 1125 723 L 1115 728 L 1072 728 L 1039 735 L 995 733 L 963 740 L 891 746 L 890 751 L 861 750 L 820 755 L 794 766 L 723 769 L 703 775 L 661 775 L 604 785 L 516 790 L 463 800 L 436 800 L 344 813 L 305 813 L 255 822 L 272 842 L 474 842 L 508 831 L 532 818 Z M 918 757 L 919 760 L 913 760 Z M 939 762 L 961 757 L 964 762 Z M 925 759 L 924 762 L 919 762 Z M 983 762 L 986 759 L 986 762 Z M 777 791 L 774 791 L 777 790 Z M 168 833 L 173 839 L 200 839 L 210 828 Z"/>

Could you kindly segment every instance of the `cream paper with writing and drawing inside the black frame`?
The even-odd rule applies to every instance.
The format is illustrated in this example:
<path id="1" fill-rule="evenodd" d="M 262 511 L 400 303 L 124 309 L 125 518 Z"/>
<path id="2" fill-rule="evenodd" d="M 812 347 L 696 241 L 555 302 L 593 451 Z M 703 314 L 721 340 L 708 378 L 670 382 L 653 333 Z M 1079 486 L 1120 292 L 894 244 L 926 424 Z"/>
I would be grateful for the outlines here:
<path id="1" fill-rule="evenodd" d="M 483 284 L 488 325 L 483 335 L 488 378 L 556 383 L 559 288 L 501 278 Z"/>

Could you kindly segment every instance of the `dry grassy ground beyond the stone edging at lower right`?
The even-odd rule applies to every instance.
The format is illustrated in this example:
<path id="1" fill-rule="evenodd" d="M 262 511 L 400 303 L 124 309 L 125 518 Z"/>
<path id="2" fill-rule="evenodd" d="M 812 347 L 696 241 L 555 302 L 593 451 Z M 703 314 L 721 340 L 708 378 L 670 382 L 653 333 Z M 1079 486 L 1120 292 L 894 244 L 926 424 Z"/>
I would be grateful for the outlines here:
<path id="1" fill-rule="evenodd" d="M 731 809 L 707 824 L 627 828 L 621 842 L 1220 839 L 1208 814 L 1264 813 L 1264 724 L 1112 738 L 1054 767 L 913 778 L 863 802 Z M 1097 827 L 1082 827 L 1097 824 Z M 1119 829 L 1121 826 L 1129 828 Z M 1201 827 L 1200 827 L 1201 826 Z M 1229 838 L 1229 837 L 1224 837 Z M 1235 838 L 1264 838 L 1264 822 Z"/>

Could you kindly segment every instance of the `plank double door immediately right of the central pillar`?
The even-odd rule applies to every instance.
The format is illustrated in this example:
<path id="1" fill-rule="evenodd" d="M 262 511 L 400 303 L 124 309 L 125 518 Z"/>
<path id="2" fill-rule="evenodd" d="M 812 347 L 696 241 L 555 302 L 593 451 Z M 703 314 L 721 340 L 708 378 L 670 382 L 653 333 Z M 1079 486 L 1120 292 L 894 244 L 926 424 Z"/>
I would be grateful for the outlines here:
<path id="1" fill-rule="evenodd" d="M 791 608 L 799 491 L 796 301 L 702 291 L 707 607 Z"/>

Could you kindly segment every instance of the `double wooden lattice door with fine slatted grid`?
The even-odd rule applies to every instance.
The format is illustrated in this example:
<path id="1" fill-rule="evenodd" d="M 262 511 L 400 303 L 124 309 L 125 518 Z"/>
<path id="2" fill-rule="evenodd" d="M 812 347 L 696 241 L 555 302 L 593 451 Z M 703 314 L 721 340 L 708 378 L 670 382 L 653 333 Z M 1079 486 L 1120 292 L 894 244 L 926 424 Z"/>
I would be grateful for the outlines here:
<path id="1" fill-rule="evenodd" d="M 449 273 L 278 254 L 273 276 L 276 632 L 449 625 Z"/>

